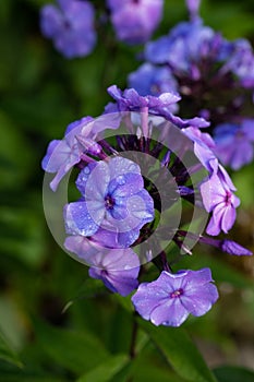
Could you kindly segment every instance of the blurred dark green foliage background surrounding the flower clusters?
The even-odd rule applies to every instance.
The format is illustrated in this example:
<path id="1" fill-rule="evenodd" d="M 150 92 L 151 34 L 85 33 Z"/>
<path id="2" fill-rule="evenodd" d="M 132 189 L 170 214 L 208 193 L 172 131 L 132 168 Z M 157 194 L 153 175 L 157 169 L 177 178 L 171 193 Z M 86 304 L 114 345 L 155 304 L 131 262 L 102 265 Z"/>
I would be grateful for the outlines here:
<path id="1" fill-rule="evenodd" d="M 89 57 L 66 60 L 40 34 L 39 9 L 46 2 L 0 1 L 0 381 L 185 381 L 143 331 L 138 356 L 130 362 L 128 299 L 87 282 L 87 268 L 57 246 L 46 225 L 40 160 L 48 142 L 61 139 L 70 122 L 101 114 L 109 102 L 106 88 L 125 86 L 141 49 L 117 43 L 105 26 Z M 254 44 L 253 0 L 205 0 L 201 13 L 227 38 Z M 186 16 L 182 0 L 165 0 L 155 36 Z M 242 204 L 229 235 L 252 250 L 253 169 L 254 164 L 232 175 Z M 241 369 L 254 369 L 254 261 L 206 247 L 194 253 L 181 267 L 210 266 L 220 300 L 183 326 L 217 368 L 219 381 L 254 381 Z"/>

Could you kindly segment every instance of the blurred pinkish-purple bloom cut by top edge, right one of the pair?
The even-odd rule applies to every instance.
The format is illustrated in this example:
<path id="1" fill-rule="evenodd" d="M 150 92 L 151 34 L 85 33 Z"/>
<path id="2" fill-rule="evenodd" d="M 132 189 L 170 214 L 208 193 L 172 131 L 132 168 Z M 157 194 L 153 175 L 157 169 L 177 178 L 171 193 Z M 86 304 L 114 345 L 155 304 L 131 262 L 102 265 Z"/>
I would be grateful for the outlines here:
<path id="1" fill-rule="evenodd" d="M 147 41 L 162 16 L 164 0 L 107 0 L 119 40 L 134 45 Z"/>

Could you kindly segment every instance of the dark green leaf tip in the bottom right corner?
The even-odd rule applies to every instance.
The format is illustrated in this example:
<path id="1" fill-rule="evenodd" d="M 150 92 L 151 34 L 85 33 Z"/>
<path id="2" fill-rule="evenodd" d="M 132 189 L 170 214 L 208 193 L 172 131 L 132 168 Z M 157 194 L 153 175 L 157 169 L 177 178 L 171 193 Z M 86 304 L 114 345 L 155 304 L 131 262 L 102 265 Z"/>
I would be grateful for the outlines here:
<path id="1" fill-rule="evenodd" d="M 241 367 L 222 366 L 214 369 L 218 382 L 253 382 L 254 371 Z"/>

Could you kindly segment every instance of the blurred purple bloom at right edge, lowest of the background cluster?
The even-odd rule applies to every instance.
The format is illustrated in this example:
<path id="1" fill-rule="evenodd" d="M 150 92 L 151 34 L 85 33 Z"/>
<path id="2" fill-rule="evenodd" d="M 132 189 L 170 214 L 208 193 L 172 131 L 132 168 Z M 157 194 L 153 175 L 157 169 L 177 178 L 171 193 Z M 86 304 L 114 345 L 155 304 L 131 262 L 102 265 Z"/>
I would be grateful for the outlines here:
<path id="1" fill-rule="evenodd" d="M 241 123 L 222 123 L 216 127 L 214 135 L 215 153 L 226 166 L 240 169 L 253 159 L 254 119 Z"/>

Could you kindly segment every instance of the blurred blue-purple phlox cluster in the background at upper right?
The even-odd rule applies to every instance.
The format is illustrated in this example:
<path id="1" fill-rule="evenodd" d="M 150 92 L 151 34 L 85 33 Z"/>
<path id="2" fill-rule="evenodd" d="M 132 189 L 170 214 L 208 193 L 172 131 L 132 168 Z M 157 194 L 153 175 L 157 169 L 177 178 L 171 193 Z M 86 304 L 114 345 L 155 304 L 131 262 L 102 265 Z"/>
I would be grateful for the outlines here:
<path id="1" fill-rule="evenodd" d="M 129 75 L 129 86 L 141 94 L 178 92 L 179 112 L 208 119 L 214 152 L 238 170 L 254 156 L 253 49 L 246 39 L 230 41 L 204 25 L 199 1 L 186 3 L 191 20 L 145 45 L 144 62 Z"/>

